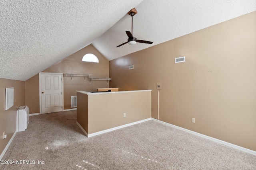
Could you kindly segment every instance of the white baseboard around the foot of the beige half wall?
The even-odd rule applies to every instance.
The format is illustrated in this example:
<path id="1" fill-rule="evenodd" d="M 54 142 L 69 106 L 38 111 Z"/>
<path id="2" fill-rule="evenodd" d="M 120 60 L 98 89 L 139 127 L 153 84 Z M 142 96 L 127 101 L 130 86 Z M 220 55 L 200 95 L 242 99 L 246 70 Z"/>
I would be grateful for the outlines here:
<path id="1" fill-rule="evenodd" d="M 135 125 L 135 124 L 142 123 L 144 121 L 149 121 L 149 120 L 151 120 L 151 117 L 148 118 L 148 119 L 143 119 L 143 120 L 140 120 L 140 121 L 136 121 L 136 122 L 128 123 L 128 124 L 125 124 L 125 125 L 121 125 L 121 126 L 118 126 L 118 127 L 113 127 L 113 128 L 106 129 L 106 130 L 103 130 L 103 131 L 95 132 L 95 133 L 92 133 L 92 134 L 88 134 L 78 122 L 76 122 L 76 124 L 80 127 L 80 129 L 82 129 L 84 134 L 89 138 L 89 137 L 93 137 L 93 136 L 96 136 L 96 135 L 100 135 L 100 134 L 103 134 L 103 133 L 107 133 L 107 132 L 110 132 L 110 131 L 114 131 L 114 130 L 117 130 L 117 129 L 121 129 L 121 128 L 124 128 L 124 127 L 128 127 L 128 126 Z"/>

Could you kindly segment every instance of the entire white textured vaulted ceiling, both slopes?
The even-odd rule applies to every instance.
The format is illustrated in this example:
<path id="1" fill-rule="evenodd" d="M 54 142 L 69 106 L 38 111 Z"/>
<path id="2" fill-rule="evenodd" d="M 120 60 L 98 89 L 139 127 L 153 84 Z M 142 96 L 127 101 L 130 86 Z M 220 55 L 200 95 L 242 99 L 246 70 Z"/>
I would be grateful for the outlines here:
<path id="1" fill-rule="evenodd" d="M 153 44 L 125 44 L 125 31 Z M 256 10 L 255 0 L 0 0 L 0 78 L 27 80 L 92 45 L 116 59 Z"/>

